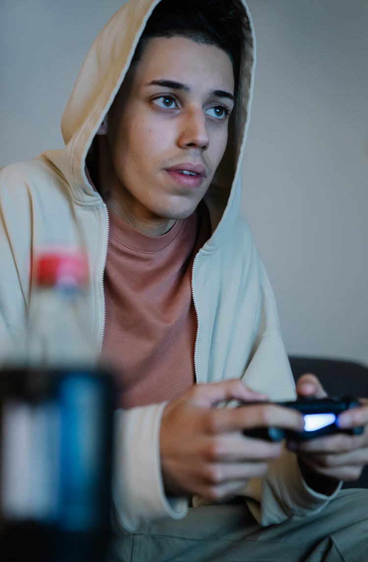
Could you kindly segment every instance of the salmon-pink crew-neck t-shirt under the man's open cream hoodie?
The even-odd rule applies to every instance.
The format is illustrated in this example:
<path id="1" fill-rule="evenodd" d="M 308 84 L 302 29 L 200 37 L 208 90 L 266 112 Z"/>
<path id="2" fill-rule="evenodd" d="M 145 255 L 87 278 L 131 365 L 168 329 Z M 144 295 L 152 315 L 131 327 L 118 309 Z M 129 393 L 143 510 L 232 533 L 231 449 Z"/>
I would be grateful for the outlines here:
<path id="1" fill-rule="evenodd" d="M 169 232 L 149 236 L 109 215 L 102 355 L 116 374 L 118 406 L 155 404 L 194 383 L 192 265 L 210 219 L 201 203 Z"/>

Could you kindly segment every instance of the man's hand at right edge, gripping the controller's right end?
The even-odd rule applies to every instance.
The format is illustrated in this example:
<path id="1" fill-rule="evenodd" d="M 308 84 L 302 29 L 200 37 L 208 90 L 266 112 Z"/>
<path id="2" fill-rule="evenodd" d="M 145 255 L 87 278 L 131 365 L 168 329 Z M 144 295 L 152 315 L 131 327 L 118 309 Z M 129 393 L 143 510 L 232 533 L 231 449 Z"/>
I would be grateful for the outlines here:
<path id="1" fill-rule="evenodd" d="M 297 383 L 299 397 L 326 396 L 324 388 L 315 375 L 303 375 Z M 363 405 L 339 415 L 338 425 L 348 429 L 365 426 L 362 435 L 338 433 L 306 442 L 289 442 L 288 448 L 296 452 L 303 475 L 312 488 L 330 493 L 338 481 L 357 480 L 368 463 L 368 400 Z"/>

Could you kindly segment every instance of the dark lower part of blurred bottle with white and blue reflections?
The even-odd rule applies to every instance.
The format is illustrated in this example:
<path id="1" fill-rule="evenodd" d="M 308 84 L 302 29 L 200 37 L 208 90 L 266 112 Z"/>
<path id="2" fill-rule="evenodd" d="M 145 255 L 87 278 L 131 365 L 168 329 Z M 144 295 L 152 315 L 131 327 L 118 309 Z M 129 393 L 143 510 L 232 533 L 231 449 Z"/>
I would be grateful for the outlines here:
<path id="1" fill-rule="evenodd" d="M 101 562 L 109 531 L 113 384 L 92 370 L 1 373 L 4 562 Z"/>

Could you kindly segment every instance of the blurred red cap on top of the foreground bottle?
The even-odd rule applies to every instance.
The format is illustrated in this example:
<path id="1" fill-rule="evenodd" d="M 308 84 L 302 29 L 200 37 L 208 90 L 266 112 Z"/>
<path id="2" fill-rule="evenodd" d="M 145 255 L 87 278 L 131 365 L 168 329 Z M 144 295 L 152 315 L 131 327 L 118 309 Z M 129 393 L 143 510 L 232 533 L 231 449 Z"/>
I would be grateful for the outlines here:
<path id="1" fill-rule="evenodd" d="M 88 259 L 81 250 L 40 252 L 34 259 L 33 278 L 43 287 L 80 287 L 88 283 Z"/>

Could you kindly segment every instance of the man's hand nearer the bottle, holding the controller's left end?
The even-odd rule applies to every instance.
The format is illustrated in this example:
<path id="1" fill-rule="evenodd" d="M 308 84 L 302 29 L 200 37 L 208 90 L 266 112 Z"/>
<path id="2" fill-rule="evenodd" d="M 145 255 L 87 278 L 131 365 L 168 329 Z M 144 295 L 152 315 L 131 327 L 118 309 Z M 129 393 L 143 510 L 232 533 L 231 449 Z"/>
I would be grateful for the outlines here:
<path id="1" fill-rule="evenodd" d="M 226 400 L 264 401 L 238 379 L 197 384 L 163 411 L 160 451 L 165 490 L 219 500 L 261 477 L 281 454 L 280 443 L 245 437 L 244 429 L 277 426 L 301 430 L 302 415 L 272 404 L 217 408 Z"/>

